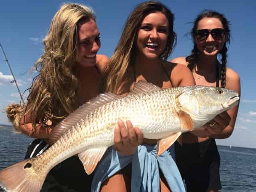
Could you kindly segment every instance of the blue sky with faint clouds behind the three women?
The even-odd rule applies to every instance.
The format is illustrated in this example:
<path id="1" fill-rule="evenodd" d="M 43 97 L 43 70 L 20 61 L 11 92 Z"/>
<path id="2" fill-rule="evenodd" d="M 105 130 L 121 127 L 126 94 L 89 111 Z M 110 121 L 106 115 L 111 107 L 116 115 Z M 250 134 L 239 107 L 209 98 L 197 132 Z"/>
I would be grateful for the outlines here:
<path id="1" fill-rule="evenodd" d="M 42 39 L 48 32 L 55 12 L 64 1 L 3 1 L 0 12 L 0 43 L 4 47 L 14 75 L 23 92 L 32 83 L 35 74 L 25 73 L 42 54 Z M 111 57 L 120 38 L 128 14 L 141 0 L 87 0 L 73 1 L 91 6 L 96 12 L 101 33 L 99 54 Z M 228 139 L 218 144 L 256 148 L 256 54 L 254 0 L 162 0 L 175 14 L 174 30 L 178 44 L 171 58 L 187 56 L 192 50 L 192 40 L 186 34 L 192 28 L 196 15 L 203 9 L 217 10 L 231 22 L 231 42 L 228 66 L 241 78 L 242 96 L 236 126 Z M 18 91 L 10 81 L 10 71 L 0 55 L 0 108 L 10 102 L 20 102 Z M 0 113 L 0 124 L 8 124 L 6 114 Z"/>

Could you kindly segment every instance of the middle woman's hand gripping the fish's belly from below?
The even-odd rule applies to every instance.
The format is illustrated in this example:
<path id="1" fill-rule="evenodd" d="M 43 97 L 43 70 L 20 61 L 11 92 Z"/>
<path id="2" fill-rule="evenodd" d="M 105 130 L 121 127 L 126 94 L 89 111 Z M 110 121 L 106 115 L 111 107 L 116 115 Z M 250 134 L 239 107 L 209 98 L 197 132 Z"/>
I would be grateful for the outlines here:
<path id="1" fill-rule="evenodd" d="M 142 142 L 143 133 L 138 127 L 133 127 L 129 120 L 126 121 L 126 126 L 122 120 L 118 120 L 118 126 L 114 130 L 114 146 L 119 153 L 132 155 Z"/>

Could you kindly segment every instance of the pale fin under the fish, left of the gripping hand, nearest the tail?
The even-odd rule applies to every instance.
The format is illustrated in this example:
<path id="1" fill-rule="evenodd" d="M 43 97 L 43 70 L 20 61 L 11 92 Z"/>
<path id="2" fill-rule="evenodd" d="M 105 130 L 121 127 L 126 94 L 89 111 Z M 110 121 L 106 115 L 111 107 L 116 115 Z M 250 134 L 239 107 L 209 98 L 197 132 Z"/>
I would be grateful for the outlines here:
<path id="1" fill-rule="evenodd" d="M 88 175 L 94 171 L 107 148 L 108 147 L 92 148 L 78 154 L 80 161 L 84 165 L 84 170 Z"/>

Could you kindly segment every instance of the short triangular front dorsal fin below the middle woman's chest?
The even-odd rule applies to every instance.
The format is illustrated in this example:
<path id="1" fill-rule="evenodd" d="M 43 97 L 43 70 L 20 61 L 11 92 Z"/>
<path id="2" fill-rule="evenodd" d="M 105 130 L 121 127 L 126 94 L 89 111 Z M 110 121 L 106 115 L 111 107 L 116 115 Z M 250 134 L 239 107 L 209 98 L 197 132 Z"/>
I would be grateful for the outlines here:
<path id="1" fill-rule="evenodd" d="M 130 90 L 128 95 L 137 95 L 145 92 L 154 92 L 160 90 L 161 88 L 148 82 L 139 81 L 134 83 L 134 88 Z"/>

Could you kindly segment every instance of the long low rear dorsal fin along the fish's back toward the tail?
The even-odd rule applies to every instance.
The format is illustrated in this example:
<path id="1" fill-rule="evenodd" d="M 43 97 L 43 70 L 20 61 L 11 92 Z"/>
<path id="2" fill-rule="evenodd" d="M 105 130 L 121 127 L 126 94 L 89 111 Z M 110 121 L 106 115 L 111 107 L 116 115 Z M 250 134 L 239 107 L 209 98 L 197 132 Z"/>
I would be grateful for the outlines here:
<path id="1" fill-rule="evenodd" d="M 104 93 L 100 94 L 97 97 L 89 100 L 76 110 L 72 112 L 69 116 L 67 116 L 64 120 L 59 122 L 50 133 L 49 142 L 50 144 L 54 144 L 67 130 L 72 128 L 72 126 L 76 125 L 78 121 L 85 116 L 99 108 L 100 106 L 109 103 L 111 101 L 122 98 L 122 96 L 112 94 L 112 93 Z"/>

